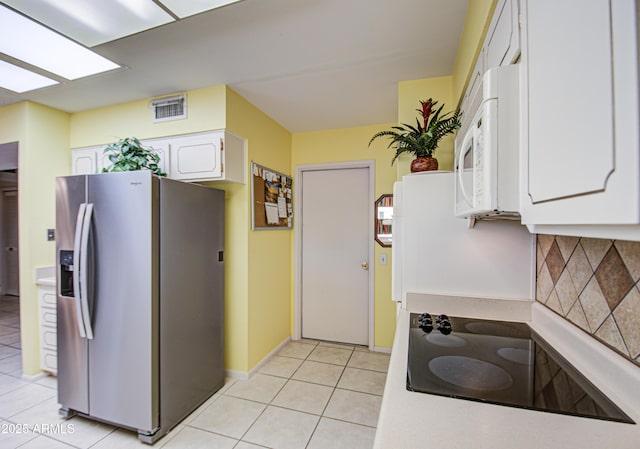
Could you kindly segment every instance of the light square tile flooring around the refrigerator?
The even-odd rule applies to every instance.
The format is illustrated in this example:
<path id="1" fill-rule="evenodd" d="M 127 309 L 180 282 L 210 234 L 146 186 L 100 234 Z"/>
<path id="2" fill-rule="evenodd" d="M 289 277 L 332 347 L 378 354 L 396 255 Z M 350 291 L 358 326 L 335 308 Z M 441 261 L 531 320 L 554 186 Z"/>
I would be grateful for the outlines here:
<path id="1" fill-rule="evenodd" d="M 154 447 L 371 448 L 388 354 L 302 340 L 250 380 L 229 379 Z M 55 377 L 21 378 L 18 301 L 0 296 L 0 448 L 143 449 L 136 434 L 57 413 Z"/>

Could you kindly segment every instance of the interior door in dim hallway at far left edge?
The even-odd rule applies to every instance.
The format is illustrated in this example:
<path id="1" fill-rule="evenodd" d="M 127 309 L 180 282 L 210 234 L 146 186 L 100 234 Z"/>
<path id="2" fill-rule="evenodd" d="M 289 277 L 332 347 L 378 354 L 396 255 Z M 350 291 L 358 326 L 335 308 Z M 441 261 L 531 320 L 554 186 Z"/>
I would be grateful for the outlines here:
<path id="1" fill-rule="evenodd" d="M 18 257 L 18 191 L 3 193 L 2 243 L 4 259 L 4 292 L 7 295 L 20 294 Z"/>

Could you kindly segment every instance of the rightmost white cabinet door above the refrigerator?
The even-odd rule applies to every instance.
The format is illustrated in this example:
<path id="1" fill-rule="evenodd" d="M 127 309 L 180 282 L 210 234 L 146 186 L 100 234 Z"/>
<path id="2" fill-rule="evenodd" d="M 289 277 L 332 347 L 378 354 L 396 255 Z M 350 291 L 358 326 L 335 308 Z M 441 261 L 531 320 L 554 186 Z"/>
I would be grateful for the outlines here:
<path id="1" fill-rule="evenodd" d="M 173 179 L 200 180 L 221 178 L 222 132 L 194 134 L 171 140 Z"/>

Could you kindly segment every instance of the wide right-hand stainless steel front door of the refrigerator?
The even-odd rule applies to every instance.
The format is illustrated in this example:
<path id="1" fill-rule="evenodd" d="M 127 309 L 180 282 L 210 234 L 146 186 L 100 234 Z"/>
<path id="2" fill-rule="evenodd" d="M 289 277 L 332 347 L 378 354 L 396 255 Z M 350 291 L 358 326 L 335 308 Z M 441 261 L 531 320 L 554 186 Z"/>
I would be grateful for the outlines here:
<path id="1" fill-rule="evenodd" d="M 87 176 L 90 415 L 158 427 L 158 206 L 149 171 Z"/>

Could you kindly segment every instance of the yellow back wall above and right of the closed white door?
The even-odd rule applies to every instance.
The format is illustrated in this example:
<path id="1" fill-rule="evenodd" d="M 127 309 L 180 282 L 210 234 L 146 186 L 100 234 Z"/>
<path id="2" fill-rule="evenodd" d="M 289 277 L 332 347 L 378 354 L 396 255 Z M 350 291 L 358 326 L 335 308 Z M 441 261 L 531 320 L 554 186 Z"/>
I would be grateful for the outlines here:
<path id="1" fill-rule="evenodd" d="M 393 183 L 396 179 L 395 168 L 391 166 L 393 151 L 387 149 L 387 143 L 382 139 L 376 140 L 371 148 L 367 147 L 371 136 L 392 125 L 294 134 L 291 170 L 295 171 L 296 166 L 303 164 L 374 160 L 375 198 L 383 193 L 393 193 Z M 395 303 L 391 301 L 391 249 L 374 245 L 374 345 L 390 348 L 393 344 L 396 317 Z M 378 264 L 380 254 L 383 253 L 387 254 L 387 265 Z"/>

